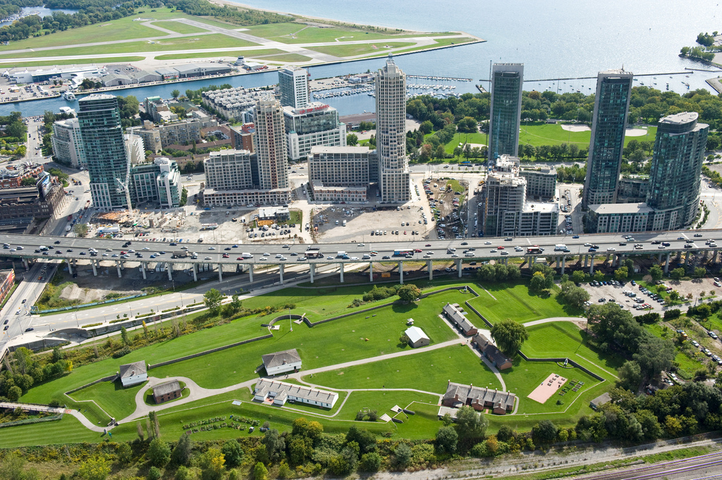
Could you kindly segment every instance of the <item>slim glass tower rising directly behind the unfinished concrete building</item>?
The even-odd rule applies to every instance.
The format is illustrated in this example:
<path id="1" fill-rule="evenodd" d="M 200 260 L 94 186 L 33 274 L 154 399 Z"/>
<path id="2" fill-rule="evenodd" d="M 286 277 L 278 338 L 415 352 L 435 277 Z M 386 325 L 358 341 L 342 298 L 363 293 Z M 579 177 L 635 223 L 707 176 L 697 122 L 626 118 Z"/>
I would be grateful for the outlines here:
<path id="1" fill-rule="evenodd" d="M 502 155 L 517 156 L 521 123 L 523 63 L 492 65 L 491 115 L 489 121 L 489 160 Z"/>

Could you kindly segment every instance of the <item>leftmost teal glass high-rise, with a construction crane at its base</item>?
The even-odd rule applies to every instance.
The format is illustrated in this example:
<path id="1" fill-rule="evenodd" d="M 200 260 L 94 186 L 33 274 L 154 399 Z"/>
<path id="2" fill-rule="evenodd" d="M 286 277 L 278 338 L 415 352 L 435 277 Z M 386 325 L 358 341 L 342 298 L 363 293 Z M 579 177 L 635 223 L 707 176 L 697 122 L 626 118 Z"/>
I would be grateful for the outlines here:
<path id="1" fill-rule="evenodd" d="M 93 205 L 99 210 L 130 208 L 130 161 L 123 141 L 118 99 L 114 95 L 92 94 L 79 99 L 78 105 Z"/>

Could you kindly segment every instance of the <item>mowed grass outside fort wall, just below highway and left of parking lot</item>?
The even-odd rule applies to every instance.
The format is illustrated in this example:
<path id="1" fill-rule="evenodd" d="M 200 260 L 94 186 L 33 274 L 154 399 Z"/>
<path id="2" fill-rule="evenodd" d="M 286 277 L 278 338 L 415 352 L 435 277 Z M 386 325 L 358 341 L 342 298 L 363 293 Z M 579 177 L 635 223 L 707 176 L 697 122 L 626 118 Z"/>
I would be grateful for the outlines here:
<path id="1" fill-rule="evenodd" d="M 560 304 L 556 298 L 556 289 L 548 297 L 541 297 L 531 293 L 525 284 L 484 283 L 482 286 L 488 293 L 481 288 L 474 288 L 479 297 L 469 303 L 492 324 L 504 319 L 526 323 L 555 316 L 578 316 L 581 313 L 578 308 Z"/>

